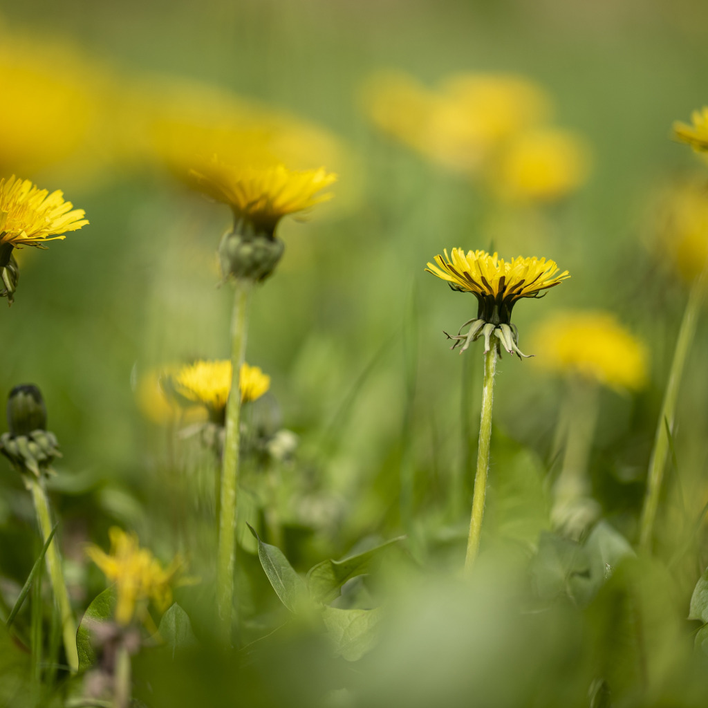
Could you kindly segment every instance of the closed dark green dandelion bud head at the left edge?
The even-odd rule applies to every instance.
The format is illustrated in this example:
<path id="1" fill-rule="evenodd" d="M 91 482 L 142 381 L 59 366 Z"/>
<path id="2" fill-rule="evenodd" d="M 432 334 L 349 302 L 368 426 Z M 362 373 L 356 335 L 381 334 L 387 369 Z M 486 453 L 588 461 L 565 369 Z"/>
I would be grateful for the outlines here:
<path id="1" fill-rule="evenodd" d="M 46 429 L 47 409 L 38 387 L 21 384 L 12 389 L 7 421 L 10 430 L 0 435 L 0 452 L 20 472 L 50 474 L 52 462 L 62 454 L 56 436 Z"/>

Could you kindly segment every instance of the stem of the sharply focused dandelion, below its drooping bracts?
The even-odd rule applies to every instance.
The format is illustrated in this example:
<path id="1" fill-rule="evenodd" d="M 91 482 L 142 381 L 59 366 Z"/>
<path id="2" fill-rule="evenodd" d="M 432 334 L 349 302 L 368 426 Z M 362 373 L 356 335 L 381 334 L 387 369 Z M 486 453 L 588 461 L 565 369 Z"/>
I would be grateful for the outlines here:
<path id="1" fill-rule="evenodd" d="M 482 530 L 484 516 L 484 499 L 486 497 L 486 478 L 489 471 L 489 441 L 491 440 L 491 406 L 494 399 L 494 373 L 496 372 L 496 343 L 484 355 L 484 382 L 482 382 L 482 413 L 479 421 L 479 447 L 477 448 L 477 471 L 474 475 L 474 496 L 472 497 L 472 517 L 469 520 L 469 537 L 467 538 L 467 556 L 464 559 L 466 573 L 472 570 L 472 565 L 479 551 L 479 536 Z"/>

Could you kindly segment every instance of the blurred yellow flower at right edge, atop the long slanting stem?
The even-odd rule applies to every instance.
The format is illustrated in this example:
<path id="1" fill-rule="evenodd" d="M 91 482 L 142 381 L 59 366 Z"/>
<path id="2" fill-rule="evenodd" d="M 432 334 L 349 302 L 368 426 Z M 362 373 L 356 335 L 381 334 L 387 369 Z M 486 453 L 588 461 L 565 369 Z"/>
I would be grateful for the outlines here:
<path id="1" fill-rule="evenodd" d="M 664 197 L 659 217 L 662 258 L 668 253 L 682 278 L 691 281 L 708 261 L 708 185 L 685 181 Z"/>

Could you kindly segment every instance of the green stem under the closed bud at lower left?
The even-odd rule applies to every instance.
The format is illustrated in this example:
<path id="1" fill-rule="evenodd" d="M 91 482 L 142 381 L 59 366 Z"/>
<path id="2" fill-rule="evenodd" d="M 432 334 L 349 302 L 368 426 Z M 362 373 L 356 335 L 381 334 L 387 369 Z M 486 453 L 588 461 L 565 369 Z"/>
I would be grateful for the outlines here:
<path id="1" fill-rule="evenodd" d="M 46 542 L 52 532 L 52 518 L 49 509 L 49 500 L 44 489 L 42 480 L 37 479 L 33 474 L 25 474 L 25 479 L 32 493 L 35 503 L 37 520 L 42 532 L 42 540 Z M 57 539 L 52 539 L 45 554 L 47 559 L 47 569 L 49 569 L 50 581 L 54 592 L 57 607 L 59 607 L 59 617 L 62 620 L 62 636 L 64 637 L 64 651 L 67 652 L 67 661 L 72 672 L 79 670 L 79 654 L 76 652 L 76 622 L 72 613 L 72 604 L 69 602 L 67 584 L 64 582 L 64 571 L 62 571 L 62 559 L 59 556 Z"/>

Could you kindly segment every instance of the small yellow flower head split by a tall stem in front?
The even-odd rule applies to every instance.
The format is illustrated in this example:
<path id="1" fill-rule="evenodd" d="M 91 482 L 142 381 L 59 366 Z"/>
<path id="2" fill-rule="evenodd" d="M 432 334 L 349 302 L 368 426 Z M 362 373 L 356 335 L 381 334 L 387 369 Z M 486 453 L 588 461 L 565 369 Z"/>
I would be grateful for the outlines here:
<path id="1" fill-rule="evenodd" d="M 231 360 L 197 361 L 171 376 L 175 392 L 188 401 L 206 406 L 217 416 L 226 409 L 231 391 Z M 239 376 L 241 403 L 255 401 L 270 387 L 270 377 L 257 366 L 244 363 Z"/>

